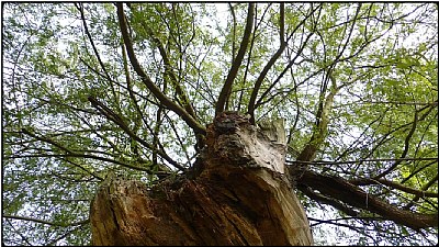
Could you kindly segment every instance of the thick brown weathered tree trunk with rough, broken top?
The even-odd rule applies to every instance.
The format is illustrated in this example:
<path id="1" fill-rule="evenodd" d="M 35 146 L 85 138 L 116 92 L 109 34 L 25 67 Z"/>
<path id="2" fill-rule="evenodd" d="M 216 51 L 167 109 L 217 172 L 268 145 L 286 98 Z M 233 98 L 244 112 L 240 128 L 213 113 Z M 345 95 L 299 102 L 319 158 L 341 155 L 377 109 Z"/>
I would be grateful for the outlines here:
<path id="1" fill-rule="evenodd" d="M 120 178 L 102 183 L 90 211 L 92 245 L 312 245 L 284 159 L 283 143 L 223 113 L 207 127 L 194 175 L 149 190 Z"/>

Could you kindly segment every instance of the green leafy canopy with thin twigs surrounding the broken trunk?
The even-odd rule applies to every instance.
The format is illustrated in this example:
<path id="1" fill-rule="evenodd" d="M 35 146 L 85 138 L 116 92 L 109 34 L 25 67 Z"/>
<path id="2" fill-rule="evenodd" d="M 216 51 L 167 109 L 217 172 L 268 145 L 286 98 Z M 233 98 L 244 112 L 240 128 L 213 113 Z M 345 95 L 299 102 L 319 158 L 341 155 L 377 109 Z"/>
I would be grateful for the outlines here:
<path id="1" fill-rule="evenodd" d="M 255 106 L 256 122 L 284 117 L 291 149 L 317 147 L 309 170 L 437 214 L 437 7 L 282 4 L 283 12 L 278 3 L 255 5 L 228 110 Z M 247 11 L 245 3 L 124 5 L 143 70 L 203 126 L 237 56 Z M 3 242 L 87 245 L 89 202 L 109 172 L 154 184 L 184 172 L 200 138 L 139 77 L 114 4 L 4 3 L 2 16 Z M 295 159 L 288 155 L 289 164 Z M 438 243 L 437 227 L 414 232 L 345 204 L 358 213 L 351 216 L 323 205 L 317 191 L 296 192 L 317 244 Z M 324 242 L 333 226 L 342 243 Z"/>

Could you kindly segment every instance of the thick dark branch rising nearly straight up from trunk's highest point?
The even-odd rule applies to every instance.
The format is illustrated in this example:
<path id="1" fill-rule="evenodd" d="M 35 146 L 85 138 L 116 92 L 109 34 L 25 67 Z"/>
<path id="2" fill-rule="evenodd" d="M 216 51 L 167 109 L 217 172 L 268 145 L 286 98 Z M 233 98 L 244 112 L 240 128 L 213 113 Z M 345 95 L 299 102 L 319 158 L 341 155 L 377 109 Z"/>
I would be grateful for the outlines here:
<path id="1" fill-rule="evenodd" d="M 230 71 L 227 75 L 227 79 L 224 82 L 223 89 L 221 90 L 218 101 L 216 102 L 215 115 L 225 110 L 224 106 L 230 96 L 232 85 L 235 81 L 236 75 L 238 74 L 239 66 L 243 63 L 244 55 L 246 54 L 246 49 L 250 41 L 251 29 L 254 25 L 254 13 L 255 13 L 255 3 L 249 3 L 247 13 L 247 24 L 246 24 L 246 30 L 244 32 L 244 37 L 239 46 L 238 55 L 236 55 Z"/>

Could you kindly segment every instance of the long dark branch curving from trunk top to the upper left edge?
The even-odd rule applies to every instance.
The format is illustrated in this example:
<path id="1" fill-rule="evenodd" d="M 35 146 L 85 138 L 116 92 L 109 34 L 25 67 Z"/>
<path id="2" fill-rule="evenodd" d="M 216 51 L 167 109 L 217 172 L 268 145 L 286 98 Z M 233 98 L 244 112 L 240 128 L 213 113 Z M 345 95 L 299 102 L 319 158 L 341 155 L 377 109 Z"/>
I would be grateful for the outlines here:
<path id="1" fill-rule="evenodd" d="M 145 86 L 151 91 L 151 93 L 162 103 L 165 106 L 169 108 L 171 111 L 176 112 L 183 121 L 195 132 L 200 134 L 205 134 L 205 127 L 200 124 L 196 120 L 194 120 L 184 109 L 175 103 L 171 99 L 166 97 L 164 92 L 158 88 L 153 80 L 146 75 L 146 72 L 142 69 L 140 64 L 137 60 L 137 57 L 134 53 L 133 43 L 131 41 L 128 34 L 128 26 L 125 20 L 125 14 L 123 12 L 123 3 L 117 3 L 117 18 L 121 26 L 122 36 L 125 43 L 126 52 L 128 54 L 130 61 L 137 72 L 137 75 L 142 78 L 142 81 Z"/>

